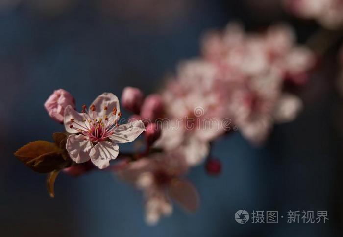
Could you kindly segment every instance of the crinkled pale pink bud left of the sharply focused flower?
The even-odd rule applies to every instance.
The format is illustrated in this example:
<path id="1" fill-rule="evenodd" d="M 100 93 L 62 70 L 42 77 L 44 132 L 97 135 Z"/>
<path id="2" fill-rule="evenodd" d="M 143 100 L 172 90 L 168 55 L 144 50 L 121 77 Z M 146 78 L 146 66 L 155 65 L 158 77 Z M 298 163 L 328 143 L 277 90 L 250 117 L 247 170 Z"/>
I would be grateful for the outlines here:
<path id="1" fill-rule="evenodd" d="M 54 91 L 44 103 L 49 116 L 60 123 L 63 123 L 64 109 L 67 105 L 75 108 L 75 99 L 73 95 L 63 89 Z"/>

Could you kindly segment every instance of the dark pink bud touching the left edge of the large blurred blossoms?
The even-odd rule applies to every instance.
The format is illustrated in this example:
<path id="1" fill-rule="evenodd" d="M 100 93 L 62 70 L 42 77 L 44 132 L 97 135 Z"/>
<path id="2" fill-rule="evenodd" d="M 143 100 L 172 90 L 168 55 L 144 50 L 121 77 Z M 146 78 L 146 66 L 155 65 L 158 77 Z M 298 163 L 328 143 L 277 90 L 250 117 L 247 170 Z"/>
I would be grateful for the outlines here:
<path id="1" fill-rule="evenodd" d="M 161 118 L 162 112 L 163 102 L 161 96 L 157 94 L 147 96 L 141 109 L 141 117 L 154 122 L 156 119 Z"/>

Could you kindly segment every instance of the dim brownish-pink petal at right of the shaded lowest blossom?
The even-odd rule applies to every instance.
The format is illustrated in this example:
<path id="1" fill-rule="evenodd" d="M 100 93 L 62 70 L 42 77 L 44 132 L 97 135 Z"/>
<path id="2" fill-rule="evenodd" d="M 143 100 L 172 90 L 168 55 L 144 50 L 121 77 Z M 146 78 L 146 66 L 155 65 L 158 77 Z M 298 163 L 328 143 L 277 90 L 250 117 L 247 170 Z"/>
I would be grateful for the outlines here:
<path id="1" fill-rule="evenodd" d="M 177 180 L 168 187 L 170 197 L 189 212 L 194 213 L 199 207 L 199 195 L 196 188 L 188 181 Z"/>

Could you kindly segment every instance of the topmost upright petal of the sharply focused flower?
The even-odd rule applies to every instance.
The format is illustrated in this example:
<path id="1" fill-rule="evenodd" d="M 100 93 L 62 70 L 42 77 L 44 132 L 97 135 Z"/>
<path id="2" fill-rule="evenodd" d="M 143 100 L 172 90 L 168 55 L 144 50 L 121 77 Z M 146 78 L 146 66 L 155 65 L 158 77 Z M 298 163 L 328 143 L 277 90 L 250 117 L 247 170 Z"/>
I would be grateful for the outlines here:
<path id="1" fill-rule="evenodd" d="M 117 115 L 120 112 L 119 100 L 116 95 L 112 93 L 103 93 L 99 95 L 92 103 L 95 105 L 95 113 L 97 118 L 103 118 L 104 115 L 112 113 L 114 108 L 117 108 Z M 104 107 L 107 106 L 107 111 Z"/>

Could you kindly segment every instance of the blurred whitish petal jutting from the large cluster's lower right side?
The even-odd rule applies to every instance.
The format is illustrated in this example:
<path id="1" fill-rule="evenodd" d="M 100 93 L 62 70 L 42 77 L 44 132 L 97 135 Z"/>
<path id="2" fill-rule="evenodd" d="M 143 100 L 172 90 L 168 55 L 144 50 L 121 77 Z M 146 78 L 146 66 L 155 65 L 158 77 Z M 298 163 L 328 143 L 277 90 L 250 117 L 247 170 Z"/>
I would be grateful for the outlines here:
<path id="1" fill-rule="evenodd" d="M 290 94 L 282 95 L 275 106 L 275 122 L 282 123 L 294 120 L 301 108 L 302 102 L 298 97 Z"/>

